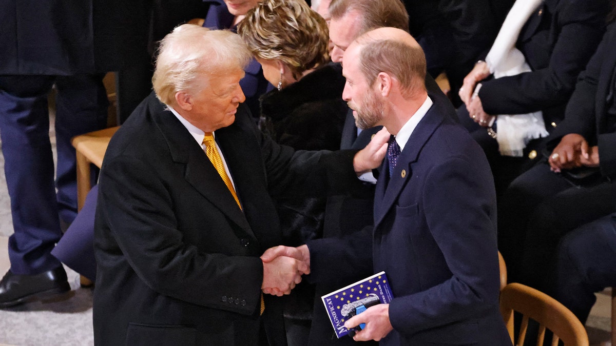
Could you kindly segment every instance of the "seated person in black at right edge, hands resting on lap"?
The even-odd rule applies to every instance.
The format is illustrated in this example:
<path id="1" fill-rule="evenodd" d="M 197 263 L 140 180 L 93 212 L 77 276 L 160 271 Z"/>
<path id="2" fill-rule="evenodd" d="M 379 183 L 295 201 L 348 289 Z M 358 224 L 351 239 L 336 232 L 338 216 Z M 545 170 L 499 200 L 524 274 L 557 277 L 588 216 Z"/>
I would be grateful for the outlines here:
<path id="1" fill-rule="evenodd" d="M 616 211 L 616 24 L 580 74 L 543 163 L 517 177 L 498 211 L 513 280 L 542 288 L 559 239 Z"/>

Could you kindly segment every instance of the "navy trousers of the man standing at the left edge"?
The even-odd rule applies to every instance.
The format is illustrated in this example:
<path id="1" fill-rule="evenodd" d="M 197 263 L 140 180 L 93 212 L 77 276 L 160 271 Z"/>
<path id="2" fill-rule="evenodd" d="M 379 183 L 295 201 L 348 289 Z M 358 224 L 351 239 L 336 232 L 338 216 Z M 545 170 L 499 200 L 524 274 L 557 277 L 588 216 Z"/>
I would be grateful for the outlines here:
<path id="1" fill-rule="evenodd" d="M 102 74 L 0 76 L 0 139 L 12 211 L 11 271 L 35 274 L 60 265 L 51 249 L 60 239 L 60 217 L 77 212 L 73 136 L 107 124 Z M 47 95 L 57 89 L 57 169 L 49 139 Z M 57 189 L 57 191 L 56 191 Z"/>

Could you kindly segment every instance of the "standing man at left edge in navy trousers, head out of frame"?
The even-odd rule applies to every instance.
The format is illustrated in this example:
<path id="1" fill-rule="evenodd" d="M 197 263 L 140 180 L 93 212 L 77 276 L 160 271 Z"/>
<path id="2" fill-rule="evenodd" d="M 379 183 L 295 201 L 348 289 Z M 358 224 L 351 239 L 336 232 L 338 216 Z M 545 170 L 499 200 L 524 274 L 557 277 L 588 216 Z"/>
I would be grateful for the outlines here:
<path id="1" fill-rule="evenodd" d="M 51 254 L 77 213 L 75 135 L 107 125 L 105 72 L 134 54 L 134 2 L 0 3 L 0 135 L 14 234 L 0 308 L 70 290 Z M 55 85 L 57 167 L 47 97 Z"/>

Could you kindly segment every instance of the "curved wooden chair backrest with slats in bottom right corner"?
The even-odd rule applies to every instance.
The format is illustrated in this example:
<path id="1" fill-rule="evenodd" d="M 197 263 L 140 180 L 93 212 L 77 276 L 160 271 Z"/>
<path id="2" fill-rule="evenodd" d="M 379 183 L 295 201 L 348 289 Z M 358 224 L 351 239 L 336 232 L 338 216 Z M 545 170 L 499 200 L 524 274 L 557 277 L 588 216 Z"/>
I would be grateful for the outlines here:
<path id="1" fill-rule="evenodd" d="M 553 332 L 551 345 L 558 345 L 562 340 L 565 346 L 588 346 L 588 335 L 580 320 L 556 299 L 519 283 L 511 283 L 501 290 L 501 314 L 514 345 L 523 345 L 529 318 L 537 321 L 539 332 L 537 345 L 543 346 L 545 330 Z M 514 340 L 513 312 L 523 315 L 517 342 Z"/>

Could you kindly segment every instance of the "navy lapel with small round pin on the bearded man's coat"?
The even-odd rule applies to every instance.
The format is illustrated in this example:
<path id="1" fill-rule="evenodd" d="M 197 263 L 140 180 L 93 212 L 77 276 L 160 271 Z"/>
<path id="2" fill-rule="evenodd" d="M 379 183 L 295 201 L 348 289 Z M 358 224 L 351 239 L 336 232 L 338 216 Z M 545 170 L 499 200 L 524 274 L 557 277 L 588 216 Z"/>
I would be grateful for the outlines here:
<path id="1" fill-rule="evenodd" d="M 434 97 L 431 97 L 431 99 L 434 100 Z M 413 163 L 417 161 L 421 149 L 442 123 L 445 115 L 446 110 L 440 103 L 435 102 L 424 118 L 419 121 L 400 156 L 398 156 L 398 164 L 395 166 L 391 178 L 386 177 L 389 160 L 387 160 L 387 157 L 383 160 L 379 172 L 379 176 L 383 178 L 379 178 L 376 183 L 375 227 L 378 227 L 379 223 L 383 221 L 387 212 L 394 206 L 404 186 L 413 176 Z"/>

